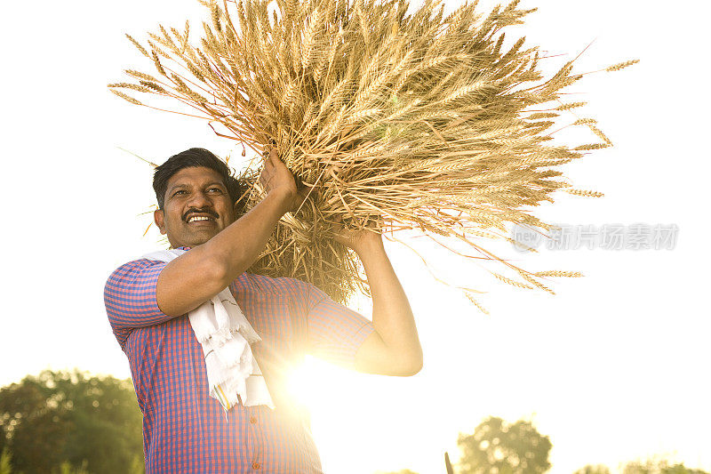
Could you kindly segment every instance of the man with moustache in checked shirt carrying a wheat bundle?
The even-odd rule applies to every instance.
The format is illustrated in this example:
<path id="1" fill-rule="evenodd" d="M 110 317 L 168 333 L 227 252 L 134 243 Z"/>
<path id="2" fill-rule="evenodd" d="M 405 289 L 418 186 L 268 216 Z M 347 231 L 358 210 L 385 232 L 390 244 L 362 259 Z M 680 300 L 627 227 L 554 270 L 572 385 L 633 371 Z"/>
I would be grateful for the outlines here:
<path id="1" fill-rule="evenodd" d="M 273 149 L 260 182 L 264 199 L 239 216 L 244 189 L 218 157 L 205 149 L 171 157 L 153 186 L 156 226 L 172 250 L 108 277 L 108 319 L 131 366 L 149 474 L 322 472 L 308 413 L 285 390 L 290 369 L 306 354 L 370 374 L 422 366 L 379 234 L 336 237 L 363 261 L 372 323 L 313 285 L 245 273 L 276 222 L 303 201 Z"/>

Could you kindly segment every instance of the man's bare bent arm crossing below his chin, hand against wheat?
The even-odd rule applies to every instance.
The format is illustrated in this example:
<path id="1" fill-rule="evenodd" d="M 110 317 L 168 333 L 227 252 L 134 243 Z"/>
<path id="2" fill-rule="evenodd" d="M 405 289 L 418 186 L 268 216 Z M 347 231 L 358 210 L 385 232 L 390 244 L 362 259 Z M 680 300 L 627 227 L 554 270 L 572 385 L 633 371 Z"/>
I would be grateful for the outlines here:
<path id="1" fill-rule="evenodd" d="M 225 289 L 257 260 L 276 222 L 300 203 L 292 173 L 272 149 L 260 175 L 265 197 L 217 235 L 168 263 L 158 277 L 156 300 L 169 316 L 180 316 Z M 195 193 L 191 205 L 211 205 Z M 157 221 L 157 219 L 156 219 Z"/>

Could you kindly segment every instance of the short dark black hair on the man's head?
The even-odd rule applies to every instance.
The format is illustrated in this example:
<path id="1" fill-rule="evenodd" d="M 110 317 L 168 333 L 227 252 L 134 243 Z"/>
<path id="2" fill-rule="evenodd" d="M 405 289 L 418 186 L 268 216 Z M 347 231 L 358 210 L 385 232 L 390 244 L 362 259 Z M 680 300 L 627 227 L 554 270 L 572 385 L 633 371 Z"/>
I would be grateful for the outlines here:
<path id="1" fill-rule="evenodd" d="M 156 191 L 159 209 L 163 209 L 165 204 L 165 191 L 168 189 L 168 181 L 172 176 L 183 168 L 198 166 L 210 168 L 220 174 L 225 187 L 228 189 L 232 205 L 235 205 L 237 199 L 244 193 L 244 185 L 237 181 L 232 175 L 228 165 L 216 157 L 212 151 L 206 149 L 187 149 L 177 155 L 173 155 L 168 158 L 163 165 L 156 167 L 156 173 L 153 174 L 153 190 Z"/>

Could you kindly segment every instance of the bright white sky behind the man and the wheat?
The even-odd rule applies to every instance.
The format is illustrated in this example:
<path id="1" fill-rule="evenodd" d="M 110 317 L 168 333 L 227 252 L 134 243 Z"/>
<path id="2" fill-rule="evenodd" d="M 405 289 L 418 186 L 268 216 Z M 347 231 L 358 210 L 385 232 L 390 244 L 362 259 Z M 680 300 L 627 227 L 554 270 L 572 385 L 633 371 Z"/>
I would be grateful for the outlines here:
<path id="1" fill-rule="evenodd" d="M 451 2 L 448 6 L 456 6 Z M 481 2 L 488 12 L 494 2 Z M 527 269 L 575 269 L 556 296 L 500 284 L 478 266 L 420 247 L 452 280 L 491 290 L 485 316 L 435 283 L 410 251 L 388 252 L 411 298 L 425 351 L 412 378 L 349 373 L 312 362 L 301 395 L 312 406 L 324 469 L 443 472 L 459 432 L 487 415 L 532 420 L 553 442 L 551 472 L 662 454 L 711 470 L 707 365 L 707 19 L 711 4 L 642 0 L 523 0 L 539 6 L 507 36 L 552 54 L 552 72 L 592 40 L 571 96 L 588 100 L 615 143 L 568 170 L 603 199 L 560 197 L 539 210 L 571 224 L 675 223 L 674 251 L 577 250 L 523 256 Z M 234 144 L 202 122 L 138 108 L 105 85 L 123 68 L 148 69 L 124 39 L 158 22 L 197 20 L 195 0 L 4 4 L 2 130 L 5 249 L 0 385 L 44 368 L 130 376 L 103 307 L 112 269 L 156 248 L 141 237 L 155 197 L 148 165 L 192 146 L 226 155 Z M 703 36 L 702 36 L 703 35 Z M 580 141 L 593 141 L 586 133 Z M 236 149 L 239 156 L 241 149 Z M 703 200 L 702 200 L 703 199 Z M 706 217 L 705 217 L 706 216 Z M 369 315 L 367 301 L 354 301 Z M 302 384 L 304 385 L 304 384 Z"/>

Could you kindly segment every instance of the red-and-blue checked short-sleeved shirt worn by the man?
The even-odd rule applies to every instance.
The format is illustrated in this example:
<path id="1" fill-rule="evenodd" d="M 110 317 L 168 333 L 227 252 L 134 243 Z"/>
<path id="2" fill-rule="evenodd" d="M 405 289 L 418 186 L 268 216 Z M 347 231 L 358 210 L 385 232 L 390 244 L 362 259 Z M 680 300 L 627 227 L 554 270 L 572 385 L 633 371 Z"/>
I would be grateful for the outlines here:
<path id="1" fill-rule="evenodd" d="M 126 263 L 104 290 L 143 413 L 148 474 L 322 472 L 308 412 L 289 397 L 286 377 L 305 354 L 352 366 L 371 322 L 313 285 L 242 274 L 229 288 L 262 338 L 252 351 L 276 409 L 238 404 L 226 414 L 209 395 L 203 349 L 187 315 L 158 308 L 156 282 L 165 265 Z"/>

